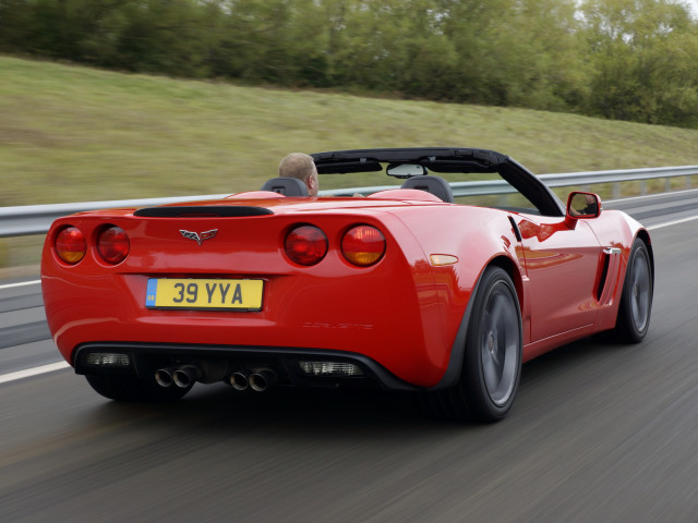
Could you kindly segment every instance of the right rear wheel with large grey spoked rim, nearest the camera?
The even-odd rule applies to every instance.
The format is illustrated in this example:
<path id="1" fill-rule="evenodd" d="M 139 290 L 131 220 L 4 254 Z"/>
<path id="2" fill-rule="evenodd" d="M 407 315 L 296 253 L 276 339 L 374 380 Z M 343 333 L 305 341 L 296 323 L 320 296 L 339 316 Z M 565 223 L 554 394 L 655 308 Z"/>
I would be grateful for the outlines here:
<path id="1" fill-rule="evenodd" d="M 521 311 L 514 283 L 505 270 L 488 267 L 472 303 L 458 384 L 426 392 L 424 404 L 449 419 L 503 419 L 518 390 L 521 349 Z"/>

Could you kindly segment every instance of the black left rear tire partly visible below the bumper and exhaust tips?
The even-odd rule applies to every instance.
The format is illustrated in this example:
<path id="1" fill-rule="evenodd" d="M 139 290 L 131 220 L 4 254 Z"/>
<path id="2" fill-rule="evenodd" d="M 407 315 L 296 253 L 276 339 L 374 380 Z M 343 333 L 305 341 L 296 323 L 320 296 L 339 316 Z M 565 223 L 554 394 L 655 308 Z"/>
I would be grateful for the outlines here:
<path id="1" fill-rule="evenodd" d="M 177 401 L 189 392 L 193 386 L 180 388 L 176 386 L 160 387 L 153 380 L 139 379 L 133 376 L 85 376 L 96 392 L 116 401 L 129 402 L 170 402 Z"/>

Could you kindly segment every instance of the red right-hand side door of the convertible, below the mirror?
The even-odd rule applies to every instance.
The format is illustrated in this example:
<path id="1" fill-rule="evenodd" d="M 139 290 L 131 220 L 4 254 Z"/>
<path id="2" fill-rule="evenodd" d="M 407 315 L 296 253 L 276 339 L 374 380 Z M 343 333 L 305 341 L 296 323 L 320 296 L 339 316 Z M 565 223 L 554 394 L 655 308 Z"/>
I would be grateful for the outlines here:
<path id="1" fill-rule="evenodd" d="M 563 217 L 513 216 L 529 278 L 531 342 L 591 326 L 601 245 L 589 224 Z"/>

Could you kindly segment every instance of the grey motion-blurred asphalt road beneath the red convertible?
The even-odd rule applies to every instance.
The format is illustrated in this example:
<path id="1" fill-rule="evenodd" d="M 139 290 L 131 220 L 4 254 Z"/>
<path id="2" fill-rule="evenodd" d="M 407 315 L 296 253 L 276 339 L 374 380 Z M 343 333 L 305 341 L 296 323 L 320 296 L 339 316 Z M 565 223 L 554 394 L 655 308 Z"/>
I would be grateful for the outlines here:
<path id="1" fill-rule="evenodd" d="M 613 206 L 652 228 L 647 339 L 526 364 L 495 425 L 399 394 L 221 384 L 124 405 L 65 368 L 9 380 L 60 358 L 38 285 L 0 282 L 0 522 L 698 521 L 698 195 Z"/>

